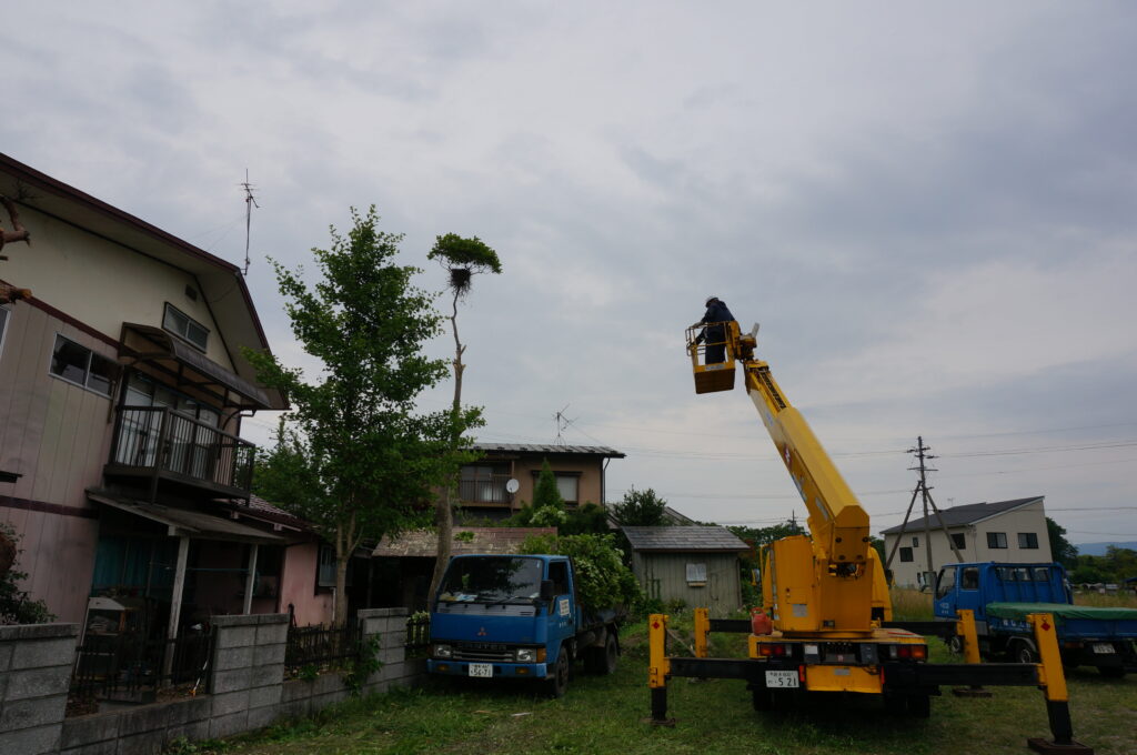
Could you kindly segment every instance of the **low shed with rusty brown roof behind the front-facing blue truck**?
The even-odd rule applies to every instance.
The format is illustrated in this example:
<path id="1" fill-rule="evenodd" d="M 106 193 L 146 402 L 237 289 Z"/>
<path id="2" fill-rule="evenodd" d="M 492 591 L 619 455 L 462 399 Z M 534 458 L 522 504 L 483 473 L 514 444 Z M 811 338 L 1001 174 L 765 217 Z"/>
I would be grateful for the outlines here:
<path id="1" fill-rule="evenodd" d="M 556 534 L 555 526 L 460 526 L 454 528 L 450 554 L 518 553 L 526 538 Z M 438 533 L 432 531 L 406 532 L 398 538 L 383 538 L 372 554 L 375 558 L 376 594 L 379 607 L 426 608 L 430 580 L 438 559 Z"/>

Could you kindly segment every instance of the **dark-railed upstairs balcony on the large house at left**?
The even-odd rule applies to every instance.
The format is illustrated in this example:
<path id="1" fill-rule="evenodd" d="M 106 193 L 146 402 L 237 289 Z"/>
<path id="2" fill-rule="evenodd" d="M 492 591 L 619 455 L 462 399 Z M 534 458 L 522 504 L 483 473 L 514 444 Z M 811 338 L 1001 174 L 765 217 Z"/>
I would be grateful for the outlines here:
<path id="1" fill-rule="evenodd" d="M 256 449 L 169 407 L 124 406 L 103 474 L 146 480 L 151 501 L 161 484 L 191 495 L 248 498 Z"/>

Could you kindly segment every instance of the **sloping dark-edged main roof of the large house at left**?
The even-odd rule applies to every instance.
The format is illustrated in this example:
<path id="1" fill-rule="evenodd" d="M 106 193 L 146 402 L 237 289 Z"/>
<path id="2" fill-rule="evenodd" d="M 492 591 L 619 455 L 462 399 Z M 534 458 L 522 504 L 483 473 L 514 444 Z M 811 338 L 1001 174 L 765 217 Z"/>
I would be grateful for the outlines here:
<path id="1" fill-rule="evenodd" d="M 31 192 L 22 192 L 30 189 Z M 94 233 L 147 257 L 193 275 L 218 323 L 224 323 L 224 342 L 238 374 L 254 381 L 252 365 L 240 347 L 268 349 L 268 339 L 257 316 L 241 269 L 188 241 L 146 221 L 75 189 L 45 173 L 0 152 L 0 193 L 17 199 L 49 217 Z M 26 196 L 25 196 L 26 193 Z M 235 292 L 235 296 L 230 296 Z M 266 391 L 273 408 L 288 404 L 280 391 Z"/>

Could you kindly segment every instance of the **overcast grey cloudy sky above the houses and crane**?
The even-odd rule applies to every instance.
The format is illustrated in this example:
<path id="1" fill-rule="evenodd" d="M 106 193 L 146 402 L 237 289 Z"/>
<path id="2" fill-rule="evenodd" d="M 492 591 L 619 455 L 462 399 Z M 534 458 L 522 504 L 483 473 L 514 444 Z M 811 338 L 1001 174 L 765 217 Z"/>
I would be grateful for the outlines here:
<path id="1" fill-rule="evenodd" d="M 1045 496 L 1137 540 L 1130 2 L 9 3 L 0 151 L 241 263 L 275 352 L 288 266 L 374 204 L 505 272 L 460 313 L 479 439 L 624 451 L 721 523 L 805 514 L 741 390 L 696 396 L 707 294 L 873 531 L 922 434 L 941 506 Z M 447 356 L 449 342 L 432 349 Z M 450 387 L 424 398 L 446 405 Z M 246 434 L 267 441 L 269 415 Z"/>

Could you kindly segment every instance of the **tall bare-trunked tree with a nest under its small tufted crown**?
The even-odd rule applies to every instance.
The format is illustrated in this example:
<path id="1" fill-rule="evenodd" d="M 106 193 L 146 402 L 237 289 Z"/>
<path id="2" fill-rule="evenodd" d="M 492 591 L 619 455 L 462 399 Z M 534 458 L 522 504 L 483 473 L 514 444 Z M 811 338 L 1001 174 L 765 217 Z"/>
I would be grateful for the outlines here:
<path id="1" fill-rule="evenodd" d="M 457 429 L 457 420 L 462 415 L 462 378 L 466 365 L 462 362 L 462 355 L 466 347 L 458 338 L 458 301 L 470 293 L 474 275 L 479 273 L 501 273 L 501 262 L 497 252 L 488 247 L 481 239 L 473 237 L 464 239 L 455 233 L 440 235 L 434 240 L 434 247 L 426 255 L 428 259 L 435 259 L 449 275 L 447 288 L 451 293 L 450 330 L 454 333 L 454 403 L 450 405 L 450 414 L 455 420 L 454 426 Z M 450 448 L 457 453 L 462 447 L 462 433 L 455 432 L 450 438 Z M 434 504 L 434 524 L 438 528 L 438 559 L 434 562 L 434 576 L 431 579 L 430 592 L 434 595 L 439 582 L 442 581 L 442 573 L 450 561 L 450 544 L 454 532 L 454 489 L 457 487 L 455 479 L 457 473 L 451 474 L 447 484 L 442 489 L 442 495 Z"/>

